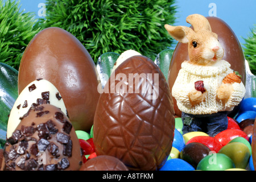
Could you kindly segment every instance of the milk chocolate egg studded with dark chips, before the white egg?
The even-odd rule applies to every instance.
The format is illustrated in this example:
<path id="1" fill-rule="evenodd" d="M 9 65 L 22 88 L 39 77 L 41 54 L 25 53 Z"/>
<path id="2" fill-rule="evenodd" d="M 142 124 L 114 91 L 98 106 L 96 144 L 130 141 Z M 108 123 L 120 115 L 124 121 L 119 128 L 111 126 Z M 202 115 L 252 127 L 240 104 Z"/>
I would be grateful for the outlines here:
<path id="1" fill-rule="evenodd" d="M 31 107 L 3 151 L 5 171 L 79 170 L 79 139 L 68 117 L 56 106 Z"/>

